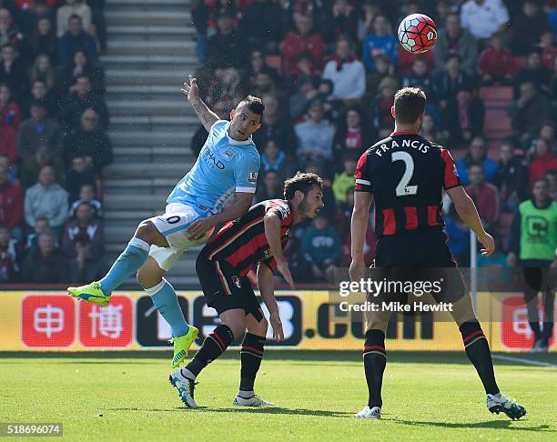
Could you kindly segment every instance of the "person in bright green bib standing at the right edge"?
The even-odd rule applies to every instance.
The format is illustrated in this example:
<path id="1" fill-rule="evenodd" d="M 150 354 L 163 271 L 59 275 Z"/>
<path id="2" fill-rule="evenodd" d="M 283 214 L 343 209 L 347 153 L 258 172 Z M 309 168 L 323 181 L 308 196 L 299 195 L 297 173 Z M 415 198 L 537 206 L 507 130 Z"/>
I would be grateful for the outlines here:
<path id="1" fill-rule="evenodd" d="M 531 221 L 536 219 L 532 224 Z M 524 301 L 534 334 L 532 350 L 547 351 L 553 336 L 554 289 L 549 267 L 555 263 L 557 247 L 557 203 L 552 201 L 549 185 L 537 179 L 532 199 L 524 201 L 512 220 L 507 263 L 522 267 Z M 542 293 L 543 327 L 538 313 L 538 294 Z"/>

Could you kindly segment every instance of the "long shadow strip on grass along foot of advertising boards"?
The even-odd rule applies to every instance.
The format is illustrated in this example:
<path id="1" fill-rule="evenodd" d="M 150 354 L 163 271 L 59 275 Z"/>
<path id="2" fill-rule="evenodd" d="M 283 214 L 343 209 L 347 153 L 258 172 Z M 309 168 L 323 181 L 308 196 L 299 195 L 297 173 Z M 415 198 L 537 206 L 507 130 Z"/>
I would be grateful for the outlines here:
<path id="1" fill-rule="evenodd" d="M 238 359 L 239 350 L 229 349 L 219 359 Z M 462 364 L 469 365 L 470 361 L 464 352 L 411 352 L 411 351 L 390 351 L 388 352 L 389 362 L 410 363 L 410 364 Z M 550 354 L 529 354 L 512 353 L 512 357 L 523 359 L 538 360 L 557 365 L 557 353 Z M 24 358 L 43 358 L 43 359 L 67 359 L 68 363 L 76 363 L 78 359 L 171 359 L 172 352 L 168 351 L 106 351 L 106 352 L 0 352 L 0 364 L 5 358 L 24 359 Z M 265 360 L 272 361 L 299 361 L 307 362 L 330 362 L 330 363 L 361 363 L 361 352 L 357 350 L 278 350 L 267 347 Z M 10 361 L 13 363 L 12 361 Z M 59 362 L 59 361 L 58 361 Z M 66 361 L 65 361 L 66 362 Z M 508 361 L 495 359 L 496 366 L 520 366 L 525 367 L 521 361 Z M 100 361 L 83 361 L 84 364 L 98 364 Z M 103 361 L 102 363 L 111 363 Z M 530 366 L 529 366 L 530 367 Z"/>

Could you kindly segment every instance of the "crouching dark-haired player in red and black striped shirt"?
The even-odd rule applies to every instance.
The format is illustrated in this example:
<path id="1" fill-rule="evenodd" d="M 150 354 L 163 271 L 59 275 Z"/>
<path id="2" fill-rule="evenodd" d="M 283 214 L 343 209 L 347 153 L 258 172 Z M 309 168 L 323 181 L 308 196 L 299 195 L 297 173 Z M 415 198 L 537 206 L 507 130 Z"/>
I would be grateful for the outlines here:
<path id="1" fill-rule="evenodd" d="M 314 219 L 323 208 L 323 184 L 315 174 L 298 173 L 284 184 L 284 200 L 271 199 L 252 206 L 248 213 L 223 226 L 197 257 L 197 276 L 207 305 L 218 312 L 221 324 L 205 338 L 203 346 L 184 369 L 170 374 L 182 402 L 196 408 L 195 380 L 199 372 L 238 337 L 246 334 L 241 349 L 241 375 L 235 406 L 272 406 L 254 392 L 268 321 L 249 283 L 248 272 L 257 267 L 258 286 L 268 308 L 273 337 L 283 339 L 279 306 L 274 295 L 273 272 L 279 269 L 294 288 L 283 250 L 290 230 Z"/>

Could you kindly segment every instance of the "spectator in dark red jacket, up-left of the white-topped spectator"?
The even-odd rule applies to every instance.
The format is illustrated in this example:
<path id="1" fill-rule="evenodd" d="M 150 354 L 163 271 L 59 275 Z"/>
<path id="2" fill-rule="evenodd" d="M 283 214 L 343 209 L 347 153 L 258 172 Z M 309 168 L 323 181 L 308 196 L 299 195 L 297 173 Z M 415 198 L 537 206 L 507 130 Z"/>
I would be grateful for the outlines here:
<path id="1" fill-rule="evenodd" d="M 313 29 L 312 15 L 294 13 L 295 29 L 281 43 L 284 67 L 287 74 L 298 74 L 297 64 L 302 54 L 311 55 L 312 65 L 320 67 L 323 62 L 325 44 L 322 36 Z"/>

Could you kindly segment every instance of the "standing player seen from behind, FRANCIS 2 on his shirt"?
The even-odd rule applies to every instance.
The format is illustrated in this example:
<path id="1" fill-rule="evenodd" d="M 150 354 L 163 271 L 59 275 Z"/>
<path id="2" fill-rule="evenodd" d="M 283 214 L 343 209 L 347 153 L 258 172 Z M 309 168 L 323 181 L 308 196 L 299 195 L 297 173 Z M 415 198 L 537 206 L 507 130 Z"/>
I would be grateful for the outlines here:
<path id="1" fill-rule="evenodd" d="M 394 132 L 371 146 L 356 166 L 356 187 L 351 222 L 350 279 L 360 281 L 365 274 L 363 246 L 371 203 L 375 201 L 375 233 L 378 236 L 375 266 L 390 281 L 442 281 L 444 293 L 432 293 L 437 302 L 454 300 L 451 315 L 461 331 L 466 355 L 476 368 L 487 395 L 491 413 L 505 413 L 512 419 L 526 414 L 520 404 L 501 394 L 495 381 L 491 351 L 471 305 L 471 296 L 447 246 L 441 218 L 441 192 L 444 189 L 462 221 L 491 256 L 493 238 L 481 225 L 470 196 L 461 186 L 448 150 L 418 135 L 425 112 L 426 95 L 420 89 L 405 87 L 394 96 L 391 114 Z M 452 267 L 443 269 L 443 267 Z M 382 273 L 381 273 L 382 272 Z M 377 276 L 374 275 L 374 276 Z M 441 276 L 441 277 L 439 277 Z M 444 276 L 444 277 L 443 277 Z M 408 303 L 408 294 L 387 293 L 375 296 L 385 301 Z M 443 298 L 444 296 L 444 298 Z M 389 303 L 377 304 L 383 306 Z M 366 312 L 364 368 L 369 389 L 368 405 L 358 418 L 379 419 L 381 385 L 387 364 L 385 330 L 391 310 L 378 308 Z"/>

